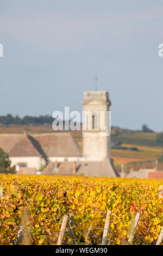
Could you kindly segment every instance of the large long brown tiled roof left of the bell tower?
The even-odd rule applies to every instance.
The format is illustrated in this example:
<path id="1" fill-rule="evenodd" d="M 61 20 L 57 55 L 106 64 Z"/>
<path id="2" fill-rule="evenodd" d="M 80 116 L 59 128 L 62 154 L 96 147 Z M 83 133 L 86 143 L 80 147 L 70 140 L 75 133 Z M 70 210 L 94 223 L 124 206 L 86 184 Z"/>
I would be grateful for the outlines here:
<path id="1" fill-rule="evenodd" d="M 70 132 L 0 135 L 0 148 L 9 156 L 81 156 L 78 144 Z"/>

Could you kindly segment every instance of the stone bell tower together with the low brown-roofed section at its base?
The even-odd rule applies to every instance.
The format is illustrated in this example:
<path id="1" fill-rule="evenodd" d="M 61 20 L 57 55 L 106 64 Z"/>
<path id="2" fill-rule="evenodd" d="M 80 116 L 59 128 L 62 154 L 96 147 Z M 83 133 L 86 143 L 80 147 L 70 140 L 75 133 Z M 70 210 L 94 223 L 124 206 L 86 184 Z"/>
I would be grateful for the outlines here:
<path id="1" fill-rule="evenodd" d="M 110 105 L 107 92 L 84 92 L 82 161 L 53 161 L 43 170 L 43 174 L 120 176 L 110 159 L 110 136 L 108 136 L 107 129 L 102 130 L 100 126 L 100 123 L 107 126 L 106 114 L 109 112 Z"/>

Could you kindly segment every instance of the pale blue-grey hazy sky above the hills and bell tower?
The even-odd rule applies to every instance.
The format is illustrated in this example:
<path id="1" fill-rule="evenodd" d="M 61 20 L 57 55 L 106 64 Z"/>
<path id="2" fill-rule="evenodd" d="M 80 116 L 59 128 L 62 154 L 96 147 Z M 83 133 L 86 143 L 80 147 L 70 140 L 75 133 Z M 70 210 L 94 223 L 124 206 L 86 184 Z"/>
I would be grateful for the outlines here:
<path id="1" fill-rule="evenodd" d="M 162 0 L 0 0 L 0 115 L 81 112 L 98 70 L 111 125 L 163 131 L 162 11 Z"/>

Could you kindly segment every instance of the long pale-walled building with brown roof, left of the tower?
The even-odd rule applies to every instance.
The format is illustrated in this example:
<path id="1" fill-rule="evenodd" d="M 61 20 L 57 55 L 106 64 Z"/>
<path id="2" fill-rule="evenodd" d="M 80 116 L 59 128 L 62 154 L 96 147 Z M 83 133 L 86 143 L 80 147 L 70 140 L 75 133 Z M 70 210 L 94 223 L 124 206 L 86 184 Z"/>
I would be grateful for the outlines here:
<path id="1" fill-rule="evenodd" d="M 70 132 L 39 134 L 2 134 L 0 148 L 11 160 L 11 166 L 40 169 L 53 161 L 78 161 L 82 154 Z"/>

